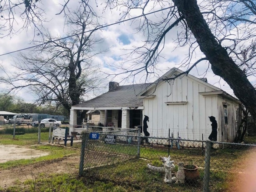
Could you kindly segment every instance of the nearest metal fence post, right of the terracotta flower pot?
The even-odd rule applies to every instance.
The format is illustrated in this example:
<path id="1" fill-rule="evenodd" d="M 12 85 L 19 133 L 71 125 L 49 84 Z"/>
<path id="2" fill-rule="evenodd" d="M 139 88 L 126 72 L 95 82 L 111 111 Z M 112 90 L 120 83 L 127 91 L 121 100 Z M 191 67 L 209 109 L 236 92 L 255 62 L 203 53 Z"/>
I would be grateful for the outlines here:
<path id="1" fill-rule="evenodd" d="M 206 141 L 204 157 L 204 192 L 209 192 L 211 147 L 212 142 Z"/>

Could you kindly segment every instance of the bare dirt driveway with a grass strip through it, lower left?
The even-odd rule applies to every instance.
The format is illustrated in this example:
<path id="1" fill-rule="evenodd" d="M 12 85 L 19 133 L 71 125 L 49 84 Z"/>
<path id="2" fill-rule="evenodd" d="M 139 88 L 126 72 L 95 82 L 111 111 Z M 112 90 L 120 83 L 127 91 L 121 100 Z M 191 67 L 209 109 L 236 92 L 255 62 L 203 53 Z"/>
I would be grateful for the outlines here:
<path id="1" fill-rule="evenodd" d="M 40 150 L 33 150 L 15 145 L 0 145 L 0 162 L 17 159 L 30 159 L 47 155 Z M 14 185 L 19 180 L 24 182 L 32 179 L 40 173 L 46 175 L 52 173 L 74 173 L 78 174 L 80 155 L 59 158 L 56 160 L 43 161 L 36 164 L 18 166 L 7 170 L 0 169 L 0 186 L 6 188 Z"/>

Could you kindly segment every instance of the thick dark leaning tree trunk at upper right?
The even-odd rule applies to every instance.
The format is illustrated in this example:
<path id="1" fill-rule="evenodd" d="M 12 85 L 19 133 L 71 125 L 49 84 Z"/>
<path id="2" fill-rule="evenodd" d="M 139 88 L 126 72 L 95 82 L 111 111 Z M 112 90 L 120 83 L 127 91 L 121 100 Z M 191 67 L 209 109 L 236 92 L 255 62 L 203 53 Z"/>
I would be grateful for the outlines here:
<path id="1" fill-rule="evenodd" d="M 242 70 L 228 56 L 228 52 L 216 41 L 204 20 L 196 0 L 173 0 L 194 34 L 201 51 L 212 65 L 214 74 L 222 77 L 234 94 L 256 118 L 256 91 Z"/>

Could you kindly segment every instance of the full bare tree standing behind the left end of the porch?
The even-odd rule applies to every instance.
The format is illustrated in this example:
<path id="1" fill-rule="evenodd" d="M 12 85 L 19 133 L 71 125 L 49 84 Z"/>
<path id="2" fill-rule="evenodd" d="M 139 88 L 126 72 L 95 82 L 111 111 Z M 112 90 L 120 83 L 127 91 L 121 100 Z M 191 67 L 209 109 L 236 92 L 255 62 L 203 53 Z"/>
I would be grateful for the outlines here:
<path id="1" fill-rule="evenodd" d="M 54 102 L 64 106 L 69 113 L 71 106 L 79 104 L 82 96 L 98 88 L 102 76 L 92 58 L 100 53 L 93 47 L 101 40 L 96 39 L 91 30 L 97 26 L 94 17 L 90 10 L 78 8 L 67 20 L 73 29 L 72 35 L 60 39 L 53 38 L 48 32 L 43 41 L 34 41 L 41 46 L 29 54 L 20 54 L 13 66 L 14 76 L 0 78 L 9 85 L 9 92 L 29 87 L 39 104 Z M 90 32 L 86 32 L 88 29 Z"/>

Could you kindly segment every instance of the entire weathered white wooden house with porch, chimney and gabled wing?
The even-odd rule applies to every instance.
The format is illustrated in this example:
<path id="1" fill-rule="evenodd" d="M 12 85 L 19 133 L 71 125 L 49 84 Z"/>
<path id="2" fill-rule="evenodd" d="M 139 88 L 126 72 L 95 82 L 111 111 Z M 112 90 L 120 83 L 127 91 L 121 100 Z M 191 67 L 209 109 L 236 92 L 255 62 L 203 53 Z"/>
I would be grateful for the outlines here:
<path id="1" fill-rule="evenodd" d="M 149 117 L 152 137 L 208 140 L 212 128 L 209 116 L 218 123 L 217 141 L 232 142 L 236 136 L 240 101 L 223 90 L 172 68 L 152 84 L 119 86 L 110 82 L 109 91 L 82 104 L 72 106 L 70 124 L 76 125 L 76 110 L 99 110 L 104 126 L 134 128 Z M 72 131 L 72 129 L 70 129 Z"/>

